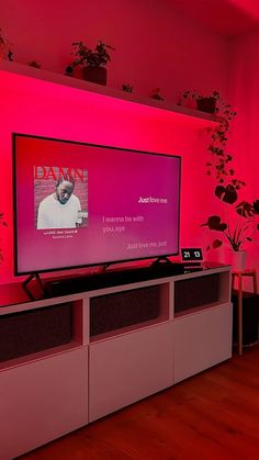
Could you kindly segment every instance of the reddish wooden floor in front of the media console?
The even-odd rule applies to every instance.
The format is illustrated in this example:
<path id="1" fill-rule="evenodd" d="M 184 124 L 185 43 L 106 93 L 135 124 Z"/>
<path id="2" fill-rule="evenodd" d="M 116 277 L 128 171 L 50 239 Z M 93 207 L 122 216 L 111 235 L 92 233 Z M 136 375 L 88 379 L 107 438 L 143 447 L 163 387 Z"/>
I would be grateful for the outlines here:
<path id="1" fill-rule="evenodd" d="M 257 460 L 259 346 L 20 459 Z"/>

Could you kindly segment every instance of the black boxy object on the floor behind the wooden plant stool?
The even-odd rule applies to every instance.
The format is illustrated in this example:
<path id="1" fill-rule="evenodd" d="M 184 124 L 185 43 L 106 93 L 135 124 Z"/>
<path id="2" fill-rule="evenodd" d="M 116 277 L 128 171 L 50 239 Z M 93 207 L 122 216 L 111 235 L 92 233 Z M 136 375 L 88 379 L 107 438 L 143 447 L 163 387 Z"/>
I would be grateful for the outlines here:
<path id="1" fill-rule="evenodd" d="M 237 294 L 232 295 L 233 302 L 233 343 L 237 344 Z M 258 341 L 259 295 L 243 292 L 243 345 Z"/>

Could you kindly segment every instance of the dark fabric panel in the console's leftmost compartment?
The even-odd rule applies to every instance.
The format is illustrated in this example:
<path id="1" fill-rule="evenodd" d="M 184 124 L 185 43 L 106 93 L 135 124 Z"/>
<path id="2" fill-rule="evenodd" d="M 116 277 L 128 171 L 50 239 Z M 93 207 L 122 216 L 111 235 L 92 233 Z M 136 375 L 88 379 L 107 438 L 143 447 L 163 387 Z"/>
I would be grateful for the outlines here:
<path id="1" fill-rule="evenodd" d="M 0 316 L 0 361 L 71 340 L 71 303 Z"/>

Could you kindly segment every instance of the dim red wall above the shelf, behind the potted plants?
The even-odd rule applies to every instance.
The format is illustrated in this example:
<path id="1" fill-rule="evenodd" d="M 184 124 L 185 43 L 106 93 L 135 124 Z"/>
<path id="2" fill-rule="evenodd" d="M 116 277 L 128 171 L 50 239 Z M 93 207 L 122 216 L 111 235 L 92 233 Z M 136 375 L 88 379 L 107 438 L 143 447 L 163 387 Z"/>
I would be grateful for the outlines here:
<path id="1" fill-rule="evenodd" d="M 2 32 L 13 43 L 14 59 L 34 59 L 64 72 L 72 60 L 71 42 L 90 47 L 103 40 L 115 47 L 108 85 L 131 83 L 149 97 L 159 87 L 168 101 L 194 87 L 226 89 L 227 41 L 177 12 L 173 1 L 10 0 L 1 10 Z"/>

